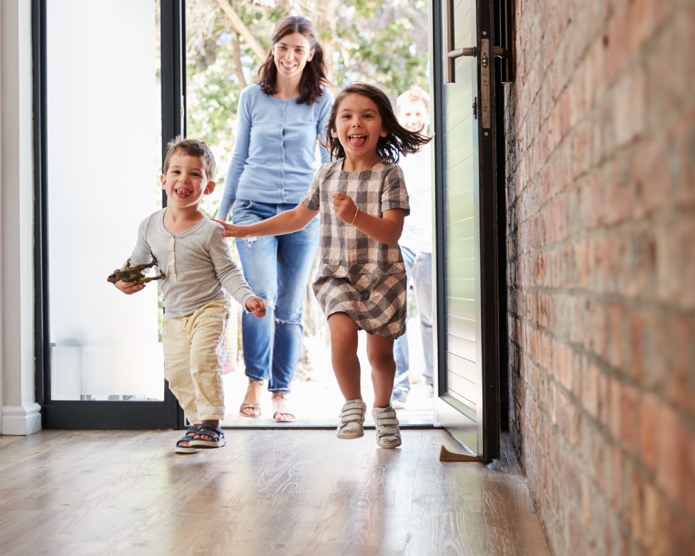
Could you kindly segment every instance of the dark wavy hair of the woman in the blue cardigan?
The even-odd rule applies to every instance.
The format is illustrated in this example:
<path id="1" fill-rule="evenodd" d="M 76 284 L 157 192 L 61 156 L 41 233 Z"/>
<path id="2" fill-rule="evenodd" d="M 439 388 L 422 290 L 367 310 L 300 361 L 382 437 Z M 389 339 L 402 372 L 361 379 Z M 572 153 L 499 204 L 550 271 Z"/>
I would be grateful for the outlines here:
<path id="1" fill-rule="evenodd" d="M 323 96 L 321 85 L 328 85 L 326 79 L 326 63 L 323 56 L 323 49 L 318 40 L 316 40 L 316 27 L 314 27 L 309 19 L 299 15 L 291 15 L 285 17 L 275 27 L 275 34 L 270 39 L 271 44 L 277 44 L 286 35 L 293 33 L 302 33 L 306 40 L 309 41 L 309 50 L 313 50 L 313 58 L 304 66 L 302 71 L 302 79 L 300 80 L 300 96 L 297 98 L 297 104 L 311 104 L 318 102 L 318 99 Z M 259 81 L 261 90 L 269 97 L 275 93 L 275 81 L 277 81 L 277 67 L 275 67 L 275 58 L 272 56 L 272 47 L 268 53 L 268 58 L 259 69 Z"/>

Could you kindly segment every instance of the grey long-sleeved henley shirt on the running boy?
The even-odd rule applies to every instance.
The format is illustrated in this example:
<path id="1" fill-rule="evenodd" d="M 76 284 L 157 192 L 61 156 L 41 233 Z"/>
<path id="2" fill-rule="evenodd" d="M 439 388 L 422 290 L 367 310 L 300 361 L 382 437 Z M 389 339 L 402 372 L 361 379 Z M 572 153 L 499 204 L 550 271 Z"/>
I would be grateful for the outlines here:
<path id="1" fill-rule="evenodd" d="M 223 297 L 224 290 L 245 308 L 254 293 L 231 258 L 222 225 L 206 217 L 172 236 L 164 227 L 165 211 L 142 220 L 131 265 L 151 263 L 152 254 L 156 256 L 157 266 L 166 276 L 157 283 L 167 316 L 190 315 Z"/>

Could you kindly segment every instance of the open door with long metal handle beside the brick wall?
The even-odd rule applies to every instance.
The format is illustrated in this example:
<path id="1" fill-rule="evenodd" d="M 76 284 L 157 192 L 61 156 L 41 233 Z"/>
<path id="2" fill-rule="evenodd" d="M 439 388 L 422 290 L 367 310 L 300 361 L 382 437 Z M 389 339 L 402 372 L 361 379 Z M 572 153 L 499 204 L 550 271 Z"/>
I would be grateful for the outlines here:
<path id="1" fill-rule="evenodd" d="M 491 3 L 433 6 L 436 419 L 499 455 L 498 278 Z"/>

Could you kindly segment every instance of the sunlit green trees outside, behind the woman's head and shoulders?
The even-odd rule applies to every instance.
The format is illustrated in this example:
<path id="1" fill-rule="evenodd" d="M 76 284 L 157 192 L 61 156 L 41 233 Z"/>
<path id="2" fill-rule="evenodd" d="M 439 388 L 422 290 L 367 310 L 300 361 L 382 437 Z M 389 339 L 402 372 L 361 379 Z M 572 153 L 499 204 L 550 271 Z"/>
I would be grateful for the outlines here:
<path id="1" fill-rule="evenodd" d="M 207 142 L 218 161 L 219 189 L 203 205 L 210 215 L 234 148 L 240 92 L 258 79 L 273 28 L 288 14 L 316 25 L 334 94 L 349 81 L 373 83 L 394 101 L 411 85 L 428 89 L 425 0 L 187 0 L 188 136 Z"/>

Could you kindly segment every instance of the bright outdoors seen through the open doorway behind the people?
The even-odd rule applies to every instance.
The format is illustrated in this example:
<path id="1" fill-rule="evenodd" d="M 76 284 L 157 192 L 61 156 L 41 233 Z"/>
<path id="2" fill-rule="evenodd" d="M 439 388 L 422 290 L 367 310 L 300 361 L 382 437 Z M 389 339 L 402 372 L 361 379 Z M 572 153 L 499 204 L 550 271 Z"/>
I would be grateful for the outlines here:
<path id="1" fill-rule="evenodd" d="M 186 128 L 189 137 L 205 140 L 220 170 L 218 188 L 202 208 L 217 213 L 224 174 L 234 150 L 236 111 L 240 91 L 258 79 L 275 24 L 284 15 L 304 15 L 316 24 L 328 62 L 334 95 L 348 81 L 366 81 L 395 99 L 411 85 L 429 89 L 429 32 L 426 0 L 384 3 L 315 0 L 302 3 L 238 3 L 218 0 L 186 1 Z M 318 160 L 318 156 L 317 156 Z M 317 163 L 318 167 L 318 163 Z M 237 257 L 234 241 L 232 253 Z M 316 267 L 312 276 L 316 274 Z M 275 426 L 270 394 L 261 398 L 261 417 L 245 418 L 238 408 L 247 388 L 244 375 L 241 307 L 231 319 L 224 348 L 224 387 L 227 427 Z M 434 404 L 421 379 L 423 347 L 417 306 L 410 304 L 408 321 L 410 391 L 398 415 L 402 423 L 434 423 Z M 323 426 L 336 423 L 343 404 L 330 363 L 327 322 L 311 288 L 304 302 L 304 338 L 292 392 L 288 400 L 297 421 L 282 426 Z M 363 398 L 373 392 L 366 357 L 365 333 L 360 333 L 359 357 Z M 267 385 L 267 383 L 266 383 Z"/>

